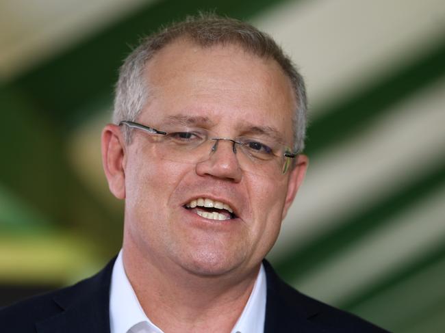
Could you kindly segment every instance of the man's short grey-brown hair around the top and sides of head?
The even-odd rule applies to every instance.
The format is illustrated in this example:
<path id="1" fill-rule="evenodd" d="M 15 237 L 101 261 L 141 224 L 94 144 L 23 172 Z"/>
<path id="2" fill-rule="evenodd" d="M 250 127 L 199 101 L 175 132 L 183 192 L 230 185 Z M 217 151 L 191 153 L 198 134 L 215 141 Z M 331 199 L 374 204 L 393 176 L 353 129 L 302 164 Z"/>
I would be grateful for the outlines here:
<path id="1" fill-rule="evenodd" d="M 215 14 L 188 16 L 186 20 L 160 29 L 156 34 L 144 38 L 134 49 L 119 70 L 114 98 L 113 122 L 136 121 L 147 103 L 149 87 L 144 79 L 147 62 L 166 45 L 179 38 L 186 38 L 203 48 L 216 44 L 236 44 L 244 51 L 262 58 L 271 58 L 281 66 L 290 79 L 296 99 L 296 110 L 292 117 L 294 150 L 301 152 L 305 146 L 307 123 L 307 97 L 305 83 L 292 60 L 268 34 L 249 23 Z M 129 129 L 124 129 L 127 142 L 131 142 Z"/>

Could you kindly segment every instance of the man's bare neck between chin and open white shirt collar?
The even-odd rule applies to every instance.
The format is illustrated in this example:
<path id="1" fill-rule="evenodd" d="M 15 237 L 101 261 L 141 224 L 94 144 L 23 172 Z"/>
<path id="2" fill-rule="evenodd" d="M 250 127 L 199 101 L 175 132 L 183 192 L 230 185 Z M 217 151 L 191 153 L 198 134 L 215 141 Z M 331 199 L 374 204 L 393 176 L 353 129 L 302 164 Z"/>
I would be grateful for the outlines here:
<path id="1" fill-rule="evenodd" d="M 147 317 L 164 332 L 230 332 L 255 284 L 244 276 L 199 276 L 124 247 L 125 273 Z M 169 265 L 171 264 L 171 265 Z"/>

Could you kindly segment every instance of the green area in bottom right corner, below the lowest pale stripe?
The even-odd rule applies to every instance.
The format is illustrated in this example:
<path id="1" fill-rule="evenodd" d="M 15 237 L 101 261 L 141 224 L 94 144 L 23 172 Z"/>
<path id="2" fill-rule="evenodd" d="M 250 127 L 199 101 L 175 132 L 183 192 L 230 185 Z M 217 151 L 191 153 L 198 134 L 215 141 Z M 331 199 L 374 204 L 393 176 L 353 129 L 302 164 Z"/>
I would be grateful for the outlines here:
<path id="1" fill-rule="evenodd" d="M 394 332 L 440 332 L 438 328 L 445 325 L 445 293 L 437 288 L 445 274 L 444 258 L 442 244 L 338 305 L 374 321 L 379 318 L 385 328 Z M 401 304 L 406 306 L 401 308 Z M 388 311 L 392 308 L 394 311 Z"/>

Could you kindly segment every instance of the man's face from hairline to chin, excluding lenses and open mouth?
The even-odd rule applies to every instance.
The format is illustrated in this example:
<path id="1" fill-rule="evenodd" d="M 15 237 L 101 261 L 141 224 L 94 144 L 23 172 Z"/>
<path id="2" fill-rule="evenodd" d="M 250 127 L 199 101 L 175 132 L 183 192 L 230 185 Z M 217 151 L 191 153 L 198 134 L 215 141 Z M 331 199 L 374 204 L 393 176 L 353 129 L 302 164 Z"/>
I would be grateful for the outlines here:
<path id="1" fill-rule="evenodd" d="M 203 49 L 178 41 L 151 59 L 146 79 L 150 97 L 142 124 L 166 131 L 163 124 L 186 117 L 225 138 L 269 126 L 292 144 L 296 102 L 289 79 L 270 59 L 238 46 Z M 131 244 L 143 260 L 200 275 L 257 267 L 277 239 L 305 157 L 287 174 L 259 174 L 242 168 L 231 142 L 220 141 L 205 161 L 181 163 L 162 158 L 147 135 L 133 131 L 125 148 L 124 249 Z M 187 207 L 197 198 L 228 204 L 234 218 L 198 215 Z"/>

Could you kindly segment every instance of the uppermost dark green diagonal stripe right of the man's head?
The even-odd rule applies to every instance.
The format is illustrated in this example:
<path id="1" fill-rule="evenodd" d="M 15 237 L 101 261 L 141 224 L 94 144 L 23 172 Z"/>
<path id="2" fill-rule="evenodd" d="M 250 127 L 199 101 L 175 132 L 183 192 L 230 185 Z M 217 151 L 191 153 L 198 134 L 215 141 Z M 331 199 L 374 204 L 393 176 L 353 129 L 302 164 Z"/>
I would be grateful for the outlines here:
<path id="1" fill-rule="evenodd" d="M 439 81 L 445 75 L 445 42 L 428 55 L 338 105 L 329 105 L 309 126 L 307 153 L 318 154 L 331 146 L 359 136 L 388 109 Z M 422 110 L 419 110 L 422 112 Z M 318 113 L 318 112 L 317 112 Z"/>

